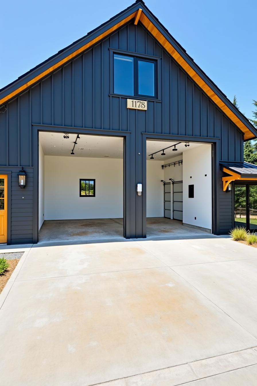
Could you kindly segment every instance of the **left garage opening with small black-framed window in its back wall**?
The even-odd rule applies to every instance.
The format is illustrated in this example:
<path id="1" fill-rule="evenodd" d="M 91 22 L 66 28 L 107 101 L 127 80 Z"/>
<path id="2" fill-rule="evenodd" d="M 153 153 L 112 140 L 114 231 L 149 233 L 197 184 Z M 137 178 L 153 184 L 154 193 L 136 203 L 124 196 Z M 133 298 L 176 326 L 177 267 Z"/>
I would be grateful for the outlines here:
<path id="1" fill-rule="evenodd" d="M 39 132 L 39 242 L 123 238 L 123 138 Z"/>

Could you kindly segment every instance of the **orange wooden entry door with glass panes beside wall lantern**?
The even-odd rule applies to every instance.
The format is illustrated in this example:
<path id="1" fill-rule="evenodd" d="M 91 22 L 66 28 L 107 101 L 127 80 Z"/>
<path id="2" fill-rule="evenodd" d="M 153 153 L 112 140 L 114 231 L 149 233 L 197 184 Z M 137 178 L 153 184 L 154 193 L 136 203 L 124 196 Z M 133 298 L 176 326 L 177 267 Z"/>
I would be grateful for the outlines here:
<path id="1" fill-rule="evenodd" d="M 0 174 L 0 243 L 7 242 L 7 175 Z"/>

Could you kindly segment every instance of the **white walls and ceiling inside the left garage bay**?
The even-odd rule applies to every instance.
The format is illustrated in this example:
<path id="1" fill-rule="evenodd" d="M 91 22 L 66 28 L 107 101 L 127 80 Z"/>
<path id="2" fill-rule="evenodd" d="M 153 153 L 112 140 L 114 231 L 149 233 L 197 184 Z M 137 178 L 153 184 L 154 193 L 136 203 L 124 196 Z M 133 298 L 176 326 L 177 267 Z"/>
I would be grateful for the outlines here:
<path id="1" fill-rule="evenodd" d="M 44 220 L 123 218 L 123 139 L 80 135 L 71 155 L 76 135 L 63 135 L 39 133 L 39 227 Z M 79 196 L 79 179 L 96 180 L 95 197 Z"/>

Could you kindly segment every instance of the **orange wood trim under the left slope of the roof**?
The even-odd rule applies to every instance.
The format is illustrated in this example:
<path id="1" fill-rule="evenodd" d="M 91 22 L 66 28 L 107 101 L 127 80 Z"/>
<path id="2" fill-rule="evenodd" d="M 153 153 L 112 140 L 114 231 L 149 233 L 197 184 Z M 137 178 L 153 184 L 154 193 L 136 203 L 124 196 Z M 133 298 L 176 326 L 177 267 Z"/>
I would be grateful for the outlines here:
<path id="1" fill-rule="evenodd" d="M 119 23 L 115 24 L 113 27 L 109 28 L 104 33 L 97 36 L 95 39 L 91 40 L 87 44 L 84 44 L 84 46 L 78 48 L 76 51 L 74 51 L 71 54 L 69 54 L 68 56 L 66 56 L 66 58 L 60 60 L 58 63 L 55 63 L 53 66 L 49 67 L 48 69 L 43 71 L 41 74 L 35 76 L 33 79 L 31 79 L 30 81 L 28 81 L 24 85 L 20 86 L 19 88 L 17 88 L 14 91 L 12 91 L 10 94 L 6 95 L 6 97 L 4 97 L 0 100 L 0 104 L 7 102 L 7 100 L 15 97 L 15 95 L 17 95 L 21 91 L 24 91 L 26 88 L 34 85 L 34 83 L 36 83 L 40 79 L 44 78 L 44 76 L 50 74 L 52 71 L 56 70 L 57 68 L 59 68 L 63 64 L 67 63 L 69 60 L 71 60 L 75 56 L 79 55 L 81 52 L 85 51 L 87 48 L 91 47 L 93 44 L 99 42 L 101 39 L 103 39 L 104 37 L 106 37 L 109 34 L 111 34 L 112 32 L 114 32 L 114 30 L 116 30 L 119 27 L 121 27 L 122 25 L 126 24 L 129 20 L 133 19 L 135 17 L 135 15 L 136 15 L 136 12 L 133 12 L 133 14 L 131 14 L 128 17 L 126 17 L 125 19 L 121 20 Z"/>

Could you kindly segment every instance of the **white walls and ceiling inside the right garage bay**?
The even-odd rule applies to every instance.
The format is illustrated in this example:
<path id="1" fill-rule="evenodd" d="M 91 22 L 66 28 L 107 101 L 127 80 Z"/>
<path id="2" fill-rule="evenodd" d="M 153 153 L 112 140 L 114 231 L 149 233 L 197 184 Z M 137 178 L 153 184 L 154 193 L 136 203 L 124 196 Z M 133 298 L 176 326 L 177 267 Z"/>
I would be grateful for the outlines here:
<path id="1" fill-rule="evenodd" d="M 172 178 L 174 181 L 183 181 L 183 223 L 210 231 L 212 229 L 212 146 L 191 142 L 190 146 L 185 147 L 185 143 L 181 142 L 176 145 L 178 151 L 174 152 L 174 147 L 171 147 L 164 151 L 165 156 L 161 156 L 161 151 L 154 154 L 154 159 L 151 160 L 151 152 L 160 151 L 177 142 L 146 142 L 146 216 L 164 216 L 163 183 L 160 181 L 163 179 L 167 183 L 171 182 L 170 178 Z M 173 156 L 174 153 L 176 156 Z M 181 160 L 182 164 L 161 168 L 161 165 Z M 188 185 L 194 185 L 194 198 L 188 198 Z M 171 219 L 173 218 L 172 188 L 171 183 Z"/>

